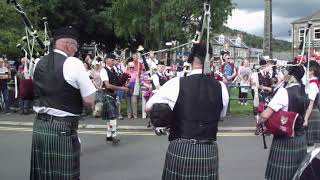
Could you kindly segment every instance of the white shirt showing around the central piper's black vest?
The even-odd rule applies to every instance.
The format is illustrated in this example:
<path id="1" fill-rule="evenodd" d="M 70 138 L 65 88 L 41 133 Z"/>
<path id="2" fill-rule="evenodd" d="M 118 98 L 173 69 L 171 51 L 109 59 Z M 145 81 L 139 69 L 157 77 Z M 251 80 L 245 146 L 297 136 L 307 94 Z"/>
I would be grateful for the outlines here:
<path id="1" fill-rule="evenodd" d="M 190 75 L 201 74 L 202 69 L 192 70 Z M 219 81 L 221 84 L 222 90 L 222 102 L 223 109 L 221 111 L 220 117 L 224 117 L 227 113 L 227 107 L 229 103 L 229 94 L 227 87 L 224 83 Z M 146 107 L 151 109 L 155 103 L 165 103 L 168 104 L 171 110 L 174 109 L 174 106 L 177 102 L 180 91 L 180 77 L 175 77 L 167 81 L 158 91 L 155 93 L 147 102 Z"/>

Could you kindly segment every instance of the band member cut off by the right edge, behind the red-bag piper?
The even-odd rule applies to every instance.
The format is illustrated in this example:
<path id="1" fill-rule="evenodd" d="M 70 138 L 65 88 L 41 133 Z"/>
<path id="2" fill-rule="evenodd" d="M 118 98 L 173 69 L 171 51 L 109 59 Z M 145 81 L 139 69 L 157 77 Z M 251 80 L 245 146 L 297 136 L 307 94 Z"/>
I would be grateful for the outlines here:
<path id="1" fill-rule="evenodd" d="M 320 66 L 316 61 L 310 61 L 309 63 L 309 87 L 306 89 L 309 104 L 303 125 L 308 127 L 307 144 L 311 150 L 315 143 L 320 143 L 320 113 L 318 110 Z"/>

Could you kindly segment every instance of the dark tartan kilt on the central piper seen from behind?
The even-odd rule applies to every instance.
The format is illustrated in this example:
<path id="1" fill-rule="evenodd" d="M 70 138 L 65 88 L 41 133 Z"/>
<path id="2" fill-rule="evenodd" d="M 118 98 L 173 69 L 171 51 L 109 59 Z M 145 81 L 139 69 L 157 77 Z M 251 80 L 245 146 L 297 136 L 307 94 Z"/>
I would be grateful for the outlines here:
<path id="1" fill-rule="evenodd" d="M 218 180 L 218 145 L 171 141 L 162 180 Z"/>

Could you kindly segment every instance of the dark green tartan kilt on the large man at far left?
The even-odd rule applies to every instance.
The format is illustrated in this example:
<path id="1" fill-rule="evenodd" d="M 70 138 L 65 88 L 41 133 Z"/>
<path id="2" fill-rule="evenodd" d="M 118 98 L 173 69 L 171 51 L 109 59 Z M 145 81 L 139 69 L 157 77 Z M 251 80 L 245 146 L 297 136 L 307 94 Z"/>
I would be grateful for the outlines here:
<path id="1" fill-rule="evenodd" d="M 36 116 L 33 125 L 30 180 L 80 179 L 78 119 Z M 68 121 L 69 120 L 69 121 Z"/>

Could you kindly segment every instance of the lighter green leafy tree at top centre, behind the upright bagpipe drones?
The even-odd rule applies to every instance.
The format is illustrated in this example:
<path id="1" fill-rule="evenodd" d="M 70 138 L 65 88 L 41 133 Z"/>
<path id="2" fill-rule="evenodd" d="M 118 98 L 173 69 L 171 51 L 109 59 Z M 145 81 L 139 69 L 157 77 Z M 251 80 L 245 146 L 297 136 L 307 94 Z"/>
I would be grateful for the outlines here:
<path id="1" fill-rule="evenodd" d="M 217 30 L 234 5 L 231 0 L 214 0 L 211 8 L 211 27 Z M 142 37 L 145 46 L 156 49 L 167 40 L 185 42 L 190 39 L 202 10 L 201 0 L 114 0 L 110 11 L 118 37 Z"/>

